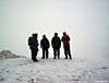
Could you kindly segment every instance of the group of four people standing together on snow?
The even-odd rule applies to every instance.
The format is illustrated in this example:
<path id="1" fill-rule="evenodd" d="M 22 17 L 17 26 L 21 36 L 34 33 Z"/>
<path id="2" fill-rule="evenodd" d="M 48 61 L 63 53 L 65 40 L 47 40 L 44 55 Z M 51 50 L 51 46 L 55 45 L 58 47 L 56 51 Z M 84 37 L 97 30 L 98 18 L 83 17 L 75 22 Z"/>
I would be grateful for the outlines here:
<path id="1" fill-rule="evenodd" d="M 37 60 L 37 52 L 38 52 L 38 34 L 35 33 L 33 34 L 29 38 L 28 38 L 28 46 L 31 48 L 32 51 L 32 60 L 34 62 L 38 62 Z M 63 43 L 63 48 L 64 48 L 64 59 L 68 59 L 68 57 L 70 59 L 72 59 L 71 56 L 71 51 L 70 51 L 70 37 L 69 35 L 66 35 L 65 32 L 63 32 L 63 36 L 60 39 L 60 37 L 58 36 L 58 33 L 55 33 L 55 36 L 51 39 L 51 46 L 53 48 L 53 59 L 56 59 L 58 57 L 58 59 L 60 59 L 60 48 L 61 48 L 61 42 Z M 43 57 L 41 59 L 48 59 L 48 49 L 50 47 L 50 43 L 48 40 L 48 38 L 46 37 L 46 35 L 43 35 L 43 39 L 40 40 L 40 48 L 43 49 Z"/>

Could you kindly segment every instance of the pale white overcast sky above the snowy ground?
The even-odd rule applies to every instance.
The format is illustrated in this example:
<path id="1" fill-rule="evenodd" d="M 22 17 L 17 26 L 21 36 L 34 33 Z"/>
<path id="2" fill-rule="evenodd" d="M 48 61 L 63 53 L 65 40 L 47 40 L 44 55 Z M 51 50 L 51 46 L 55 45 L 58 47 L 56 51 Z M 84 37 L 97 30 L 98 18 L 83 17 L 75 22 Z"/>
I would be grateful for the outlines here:
<path id="1" fill-rule="evenodd" d="M 73 55 L 109 54 L 109 0 L 0 0 L 0 50 L 28 56 L 32 33 L 63 31 Z"/>

